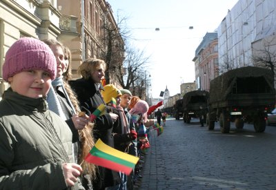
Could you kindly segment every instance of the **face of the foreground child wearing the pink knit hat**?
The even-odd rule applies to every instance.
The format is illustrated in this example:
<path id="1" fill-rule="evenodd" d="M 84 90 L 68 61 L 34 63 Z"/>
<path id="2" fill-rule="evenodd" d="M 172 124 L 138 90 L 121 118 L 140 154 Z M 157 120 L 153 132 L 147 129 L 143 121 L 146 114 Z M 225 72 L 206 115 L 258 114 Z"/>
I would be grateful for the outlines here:
<path id="1" fill-rule="evenodd" d="M 45 70 L 27 70 L 8 78 L 12 91 L 32 98 L 46 96 L 52 79 Z"/>

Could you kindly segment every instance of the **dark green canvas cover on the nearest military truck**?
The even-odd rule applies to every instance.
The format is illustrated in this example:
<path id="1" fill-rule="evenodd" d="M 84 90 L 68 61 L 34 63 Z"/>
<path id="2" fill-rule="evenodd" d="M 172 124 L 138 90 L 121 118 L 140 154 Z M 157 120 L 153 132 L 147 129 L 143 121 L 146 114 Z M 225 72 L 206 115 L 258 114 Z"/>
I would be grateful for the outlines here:
<path id="1" fill-rule="evenodd" d="M 250 93 L 275 94 L 271 70 L 253 66 L 228 70 L 210 82 L 209 104 L 225 101 L 231 94 Z"/>

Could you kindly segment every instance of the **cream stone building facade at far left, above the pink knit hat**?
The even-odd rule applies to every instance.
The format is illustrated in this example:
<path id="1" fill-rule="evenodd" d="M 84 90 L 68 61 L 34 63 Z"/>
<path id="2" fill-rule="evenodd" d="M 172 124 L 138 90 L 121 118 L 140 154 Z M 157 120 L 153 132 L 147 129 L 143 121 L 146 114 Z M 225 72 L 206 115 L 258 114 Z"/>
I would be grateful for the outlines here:
<path id="1" fill-rule="evenodd" d="M 21 37 L 57 37 L 60 17 L 57 1 L 0 1 L 0 97 L 8 88 L 1 70 L 8 48 Z"/>

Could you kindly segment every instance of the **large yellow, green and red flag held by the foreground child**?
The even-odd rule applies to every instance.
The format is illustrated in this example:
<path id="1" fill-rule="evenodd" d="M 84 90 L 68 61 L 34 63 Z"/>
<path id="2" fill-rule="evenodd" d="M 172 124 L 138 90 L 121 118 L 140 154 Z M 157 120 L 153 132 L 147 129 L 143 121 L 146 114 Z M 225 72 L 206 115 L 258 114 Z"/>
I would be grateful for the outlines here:
<path id="1" fill-rule="evenodd" d="M 90 153 L 86 155 L 85 160 L 86 162 L 129 175 L 139 158 L 113 149 L 99 139 L 90 150 Z"/>

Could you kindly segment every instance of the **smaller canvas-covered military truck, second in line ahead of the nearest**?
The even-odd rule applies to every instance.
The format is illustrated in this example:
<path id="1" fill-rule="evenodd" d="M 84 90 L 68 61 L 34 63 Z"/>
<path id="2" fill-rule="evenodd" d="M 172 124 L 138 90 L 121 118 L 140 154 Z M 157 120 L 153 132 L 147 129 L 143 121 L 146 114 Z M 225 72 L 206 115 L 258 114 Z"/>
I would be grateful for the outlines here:
<path id="1" fill-rule="evenodd" d="M 183 96 L 183 120 L 190 123 L 192 117 L 199 118 L 201 126 L 206 122 L 207 102 L 209 93 L 207 91 L 190 91 Z"/>

